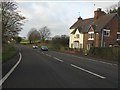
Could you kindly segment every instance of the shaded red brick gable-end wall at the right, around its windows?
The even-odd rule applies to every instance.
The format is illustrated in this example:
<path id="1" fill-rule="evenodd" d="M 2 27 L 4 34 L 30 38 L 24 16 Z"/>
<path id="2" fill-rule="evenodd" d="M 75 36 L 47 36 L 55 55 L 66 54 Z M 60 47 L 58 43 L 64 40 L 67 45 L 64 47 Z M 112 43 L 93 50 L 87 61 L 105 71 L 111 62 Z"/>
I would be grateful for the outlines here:
<path id="1" fill-rule="evenodd" d="M 109 47 L 109 44 L 114 44 L 117 40 L 118 18 L 114 17 L 106 27 L 110 30 L 110 37 L 104 37 L 104 42 L 105 47 Z"/>

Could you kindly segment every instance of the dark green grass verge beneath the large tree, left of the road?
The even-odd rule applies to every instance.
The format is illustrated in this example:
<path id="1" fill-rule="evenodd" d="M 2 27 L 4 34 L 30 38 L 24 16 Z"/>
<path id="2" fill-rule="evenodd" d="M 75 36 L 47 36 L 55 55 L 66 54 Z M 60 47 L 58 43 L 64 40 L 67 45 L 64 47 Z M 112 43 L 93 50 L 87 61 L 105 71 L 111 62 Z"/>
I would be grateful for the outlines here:
<path id="1" fill-rule="evenodd" d="M 4 63 L 4 62 L 8 61 L 16 53 L 17 53 L 17 50 L 14 46 L 12 46 L 10 44 L 3 44 L 2 62 Z"/>

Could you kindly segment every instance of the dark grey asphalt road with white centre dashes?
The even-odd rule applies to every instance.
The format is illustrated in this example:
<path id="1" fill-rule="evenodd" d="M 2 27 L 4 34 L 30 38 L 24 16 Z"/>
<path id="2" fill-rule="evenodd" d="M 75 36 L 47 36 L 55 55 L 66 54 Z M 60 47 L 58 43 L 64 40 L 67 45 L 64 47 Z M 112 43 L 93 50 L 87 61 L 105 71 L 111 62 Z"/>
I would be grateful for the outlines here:
<path id="1" fill-rule="evenodd" d="M 22 59 L 3 88 L 117 88 L 118 66 L 18 46 Z"/>

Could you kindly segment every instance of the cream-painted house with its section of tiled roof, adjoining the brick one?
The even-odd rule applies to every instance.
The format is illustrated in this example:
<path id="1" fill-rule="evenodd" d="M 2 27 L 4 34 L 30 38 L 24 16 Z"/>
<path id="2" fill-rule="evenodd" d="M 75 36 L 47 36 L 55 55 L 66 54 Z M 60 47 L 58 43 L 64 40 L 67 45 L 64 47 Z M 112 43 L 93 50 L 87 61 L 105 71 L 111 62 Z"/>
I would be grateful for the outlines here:
<path id="1" fill-rule="evenodd" d="M 84 19 L 81 17 L 70 27 L 69 48 L 84 48 L 84 33 L 89 28 L 89 23 L 93 19 Z"/>

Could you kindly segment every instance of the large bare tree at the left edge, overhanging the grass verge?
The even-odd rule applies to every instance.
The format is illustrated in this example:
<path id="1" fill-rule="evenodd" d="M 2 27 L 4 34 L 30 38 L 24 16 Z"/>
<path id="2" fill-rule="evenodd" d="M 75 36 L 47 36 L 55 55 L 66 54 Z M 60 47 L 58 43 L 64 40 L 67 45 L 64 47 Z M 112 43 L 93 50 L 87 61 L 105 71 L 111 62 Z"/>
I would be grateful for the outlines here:
<path id="1" fill-rule="evenodd" d="M 22 30 L 24 16 L 17 11 L 17 3 L 13 1 L 0 2 L 2 13 L 2 37 L 14 37 Z"/>

